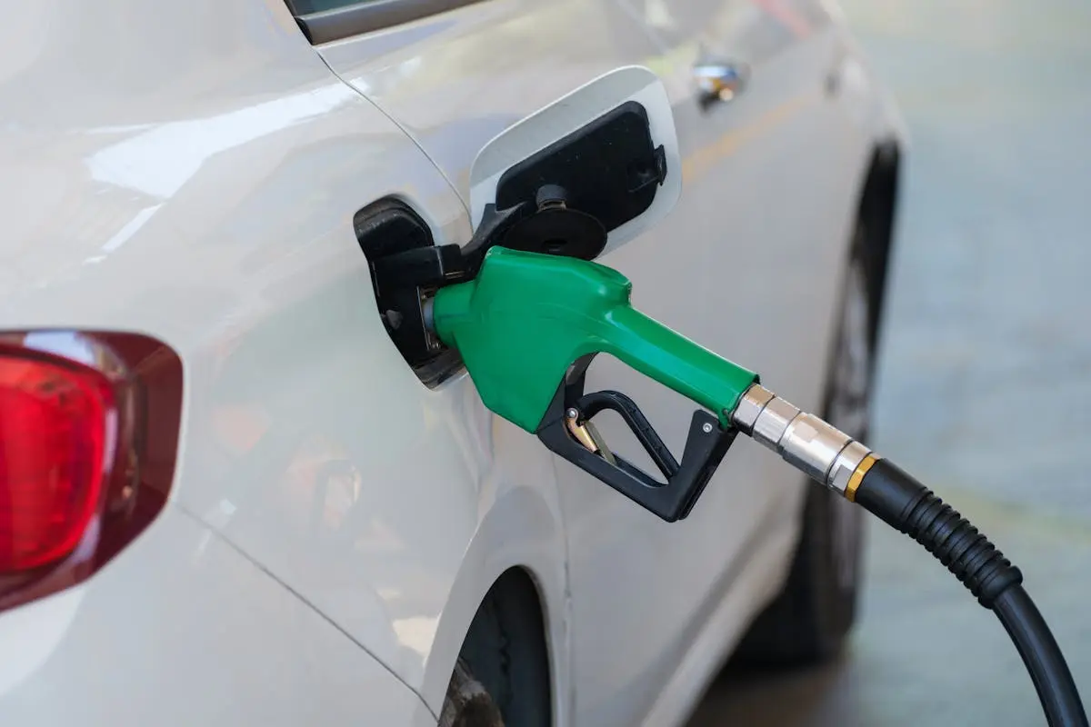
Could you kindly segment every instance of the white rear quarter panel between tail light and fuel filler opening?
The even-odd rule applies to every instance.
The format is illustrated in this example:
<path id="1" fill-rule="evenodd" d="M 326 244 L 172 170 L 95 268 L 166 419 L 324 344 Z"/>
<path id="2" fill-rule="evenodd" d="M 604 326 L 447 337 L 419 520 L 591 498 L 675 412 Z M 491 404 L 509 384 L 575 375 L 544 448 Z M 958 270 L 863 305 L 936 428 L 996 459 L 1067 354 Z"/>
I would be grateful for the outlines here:
<path id="1" fill-rule="evenodd" d="M 279 1 L 112 8 L 12 17 L 38 45 L 4 45 L 32 61 L 8 58 L 0 85 L 0 328 L 171 346 L 185 391 L 172 500 L 420 689 L 437 620 L 461 614 L 465 630 L 480 599 L 446 608 L 513 477 L 471 383 L 427 389 L 386 337 L 352 216 L 395 195 L 460 242 L 466 207 Z M 142 33 L 103 44 L 116 17 Z M 553 499 L 536 516 L 555 512 L 544 451 L 519 468 Z M 560 526 L 536 522 L 512 558 L 538 553 L 562 594 Z"/>

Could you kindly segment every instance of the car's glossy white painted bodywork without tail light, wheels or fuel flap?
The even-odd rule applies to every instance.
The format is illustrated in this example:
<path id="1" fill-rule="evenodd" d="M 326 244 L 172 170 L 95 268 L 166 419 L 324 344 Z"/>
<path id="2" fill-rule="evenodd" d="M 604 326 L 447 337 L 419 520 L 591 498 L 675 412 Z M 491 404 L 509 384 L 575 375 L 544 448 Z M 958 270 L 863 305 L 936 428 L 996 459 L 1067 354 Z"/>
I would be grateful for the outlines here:
<path id="1" fill-rule="evenodd" d="M 190 700 L 178 724 L 434 723 L 478 604 L 521 567 L 556 724 L 683 719 L 783 581 L 801 483 L 740 441 L 668 525 L 496 420 L 465 374 L 423 386 L 383 329 L 352 217 L 395 196 L 437 243 L 465 243 L 469 168 L 492 136 L 603 72 L 651 68 L 683 195 L 603 262 L 639 308 L 815 407 L 859 185 L 875 143 L 901 133 L 824 8 L 488 0 L 317 49 L 280 0 L 12 8 L 0 330 L 155 336 L 182 358 L 185 400 L 163 519 L 84 586 L 0 614 L 5 653 L 28 623 L 60 634 L 0 679 L 0 718 L 93 692 L 85 673 L 116 647 L 149 665 L 136 716 Z M 746 63 L 748 86 L 702 111 L 692 68 L 720 58 Z M 589 386 L 633 395 L 681 447 L 688 403 L 612 361 Z M 127 629 L 109 606 L 130 602 L 161 620 Z M 251 659 L 276 662 L 280 691 L 242 683 L 226 706 L 213 681 Z M 118 688 L 88 715 L 125 722 Z"/>

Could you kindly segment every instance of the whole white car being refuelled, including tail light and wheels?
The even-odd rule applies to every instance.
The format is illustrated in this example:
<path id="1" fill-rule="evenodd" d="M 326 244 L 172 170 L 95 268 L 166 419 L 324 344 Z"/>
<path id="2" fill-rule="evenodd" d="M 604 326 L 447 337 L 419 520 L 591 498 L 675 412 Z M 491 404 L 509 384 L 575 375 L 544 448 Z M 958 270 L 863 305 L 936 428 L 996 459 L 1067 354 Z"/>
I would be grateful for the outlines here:
<path id="1" fill-rule="evenodd" d="M 904 138 L 828 0 L 5 8 L 0 724 L 680 725 L 731 653 L 836 652 L 855 510 L 741 440 L 663 522 L 376 302 L 491 140 L 631 66 L 683 192 L 599 262 L 862 434 Z"/>

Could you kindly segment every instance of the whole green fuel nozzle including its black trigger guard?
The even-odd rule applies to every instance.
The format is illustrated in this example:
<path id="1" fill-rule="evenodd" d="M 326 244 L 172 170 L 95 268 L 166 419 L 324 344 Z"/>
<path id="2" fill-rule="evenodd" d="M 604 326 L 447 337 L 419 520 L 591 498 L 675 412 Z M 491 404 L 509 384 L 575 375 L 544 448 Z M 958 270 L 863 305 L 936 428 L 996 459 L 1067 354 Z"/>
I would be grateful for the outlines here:
<path id="1" fill-rule="evenodd" d="M 631 292 L 632 283 L 606 266 L 497 246 L 472 280 L 436 292 L 430 324 L 458 350 L 485 407 L 673 521 L 688 513 L 731 445 L 731 413 L 757 375 L 634 310 Z M 584 392 L 598 353 L 704 408 L 694 414 L 681 462 L 632 399 Z M 590 419 L 607 409 L 630 425 L 661 478 L 615 457 L 598 437 Z"/>

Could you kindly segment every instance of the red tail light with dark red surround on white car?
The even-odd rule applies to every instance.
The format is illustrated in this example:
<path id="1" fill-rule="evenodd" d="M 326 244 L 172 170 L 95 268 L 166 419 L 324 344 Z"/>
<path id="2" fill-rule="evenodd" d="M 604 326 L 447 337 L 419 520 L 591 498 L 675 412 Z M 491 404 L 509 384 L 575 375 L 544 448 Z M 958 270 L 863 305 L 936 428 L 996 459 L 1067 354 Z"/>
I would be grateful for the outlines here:
<path id="1" fill-rule="evenodd" d="M 0 610 L 86 579 L 151 522 L 180 410 L 158 341 L 0 334 Z"/>

